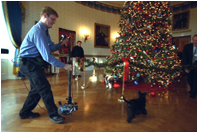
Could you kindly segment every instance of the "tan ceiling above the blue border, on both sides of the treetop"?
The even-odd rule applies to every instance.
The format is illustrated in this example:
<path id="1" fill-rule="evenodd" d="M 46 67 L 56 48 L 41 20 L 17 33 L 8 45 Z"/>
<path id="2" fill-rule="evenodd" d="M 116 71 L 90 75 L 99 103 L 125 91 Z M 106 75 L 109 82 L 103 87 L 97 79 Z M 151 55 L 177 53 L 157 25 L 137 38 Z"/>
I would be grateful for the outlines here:
<path id="1" fill-rule="evenodd" d="M 99 3 L 103 3 L 109 6 L 114 6 L 114 7 L 118 7 L 118 8 L 122 8 L 122 5 L 124 4 L 125 1 L 97 1 Z M 183 3 L 186 1 L 170 1 L 170 5 L 177 5 L 180 3 Z"/>

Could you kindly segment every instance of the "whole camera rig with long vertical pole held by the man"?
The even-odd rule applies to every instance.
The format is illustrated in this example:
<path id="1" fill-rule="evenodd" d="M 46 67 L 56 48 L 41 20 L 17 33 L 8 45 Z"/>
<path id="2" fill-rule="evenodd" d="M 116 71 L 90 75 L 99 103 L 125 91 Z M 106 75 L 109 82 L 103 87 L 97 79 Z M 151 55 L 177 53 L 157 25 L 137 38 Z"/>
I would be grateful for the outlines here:
<path id="1" fill-rule="evenodd" d="M 67 36 L 65 34 L 61 35 L 61 41 L 64 40 Z M 69 59 L 70 59 L 70 37 L 69 37 L 69 44 L 68 44 L 68 49 L 69 49 Z M 70 61 L 68 61 L 68 64 L 71 64 Z M 78 106 L 76 102 L 72 102 L 72 97 L 71 97 L 71 71 L 68 70 L 68 98 L 66 98 L 67 103 L 62 105 L 61 101 L 59 101 L 59 107 L 58 107 L 58 113 L 59 115 L 69 115 L 70 118 L 72 118 L 72 111 L 78 110 Z"/>

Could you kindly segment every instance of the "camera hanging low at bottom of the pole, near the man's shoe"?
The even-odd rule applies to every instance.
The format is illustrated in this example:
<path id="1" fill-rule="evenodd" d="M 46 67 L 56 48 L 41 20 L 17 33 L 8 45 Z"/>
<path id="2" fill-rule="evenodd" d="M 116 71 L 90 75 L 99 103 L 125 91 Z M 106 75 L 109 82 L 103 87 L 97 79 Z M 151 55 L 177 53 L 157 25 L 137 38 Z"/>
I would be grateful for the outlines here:
<path id="1" fill-rule="evenodd" d="M 58 107 L 58 113 L 59 115 L 71 115 L 70 117 L 72 118 L 72 111 L 78 110 L 77 103 L 71 103 L 71 104 L 64 104 L 62 105 L 61 101 L 58 102 L 59 107 Z"/>

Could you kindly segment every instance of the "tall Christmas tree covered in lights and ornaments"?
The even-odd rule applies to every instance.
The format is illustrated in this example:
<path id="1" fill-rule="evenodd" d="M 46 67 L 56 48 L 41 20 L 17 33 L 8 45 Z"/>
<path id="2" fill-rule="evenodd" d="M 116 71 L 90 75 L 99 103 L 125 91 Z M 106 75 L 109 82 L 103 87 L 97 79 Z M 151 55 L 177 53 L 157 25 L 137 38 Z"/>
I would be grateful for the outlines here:
<path id="1" fill-rule="evenodd" d="M 171 14 L 168 1 L 124 2 L 105 73 L 120 79 L 127 74 L 125 81 L 143 79 L 151 87 L 179 81 L 181 60 L 171 45 Z"/>

